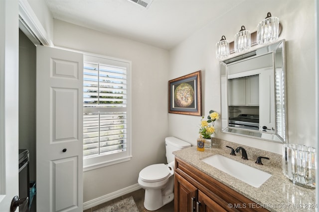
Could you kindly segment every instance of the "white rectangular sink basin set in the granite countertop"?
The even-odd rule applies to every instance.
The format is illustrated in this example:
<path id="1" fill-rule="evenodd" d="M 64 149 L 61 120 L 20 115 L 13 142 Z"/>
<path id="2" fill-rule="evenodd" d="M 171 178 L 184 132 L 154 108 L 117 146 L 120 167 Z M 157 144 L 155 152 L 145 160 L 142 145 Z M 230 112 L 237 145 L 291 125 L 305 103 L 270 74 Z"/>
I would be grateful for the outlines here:
<path id="1" fill-rule="evenodd" d="M 202 161 L 256 188 L 260 187 L 271 177 L 271 174 L 268 174 L 267 172 L 224 157 L 220 154 L 207 157 L 202 159 Z"/>

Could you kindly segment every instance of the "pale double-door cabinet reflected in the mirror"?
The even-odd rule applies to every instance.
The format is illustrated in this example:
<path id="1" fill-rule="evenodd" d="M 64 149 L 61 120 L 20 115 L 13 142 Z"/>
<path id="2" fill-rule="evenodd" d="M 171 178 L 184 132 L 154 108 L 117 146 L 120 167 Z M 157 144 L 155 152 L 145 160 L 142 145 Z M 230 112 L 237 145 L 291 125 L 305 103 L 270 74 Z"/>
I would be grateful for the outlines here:
<path id="1" fill-rule="evenodd" d="M 259 106 L 259 76 L 228 80 L 229 106 Z"/>

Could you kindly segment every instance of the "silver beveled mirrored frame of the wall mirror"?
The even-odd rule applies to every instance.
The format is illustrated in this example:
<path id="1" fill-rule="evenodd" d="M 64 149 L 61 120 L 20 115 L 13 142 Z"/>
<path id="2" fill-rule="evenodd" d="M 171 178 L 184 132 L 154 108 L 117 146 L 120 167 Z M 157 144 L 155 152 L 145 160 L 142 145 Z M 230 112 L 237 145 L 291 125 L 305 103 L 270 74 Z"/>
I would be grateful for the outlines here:
<path id="1" fill-rule="evenodd" d="M 263 52 L 255 54 L 257 51 Z M 276 53 L 282 56 L 282 69 L 276 67 Z M 227 66 L 242 62 L 245 60 L 252 60 L 263 55 L 272 54 L 272 66 L 274 70 L 274 86 L 280 87 L 280 93 L 274 93 L 275 104 L 275 133 L 268 133 L 256 130 L 241 129 L 229 126 L 228 118 L 228 72 Z M 279 63 L 278 63 L 279 64 Z M 227 58 L 219 63 L 220 70 L 220 86 L 221 86 L 221 132 L 244 136 L 259 140 L 272 141 L 278 143 L 288 143 L 288 127 L 287 127 L 287 83 L 286 83 L 286 54 L 285 54 L 285 40 L 280 40 L 269 45 L 264 45 L 253 51 L 245 52 L 236 55 L 232 58 Z M 277 80 L 276 80 L 277 77 Z"/>

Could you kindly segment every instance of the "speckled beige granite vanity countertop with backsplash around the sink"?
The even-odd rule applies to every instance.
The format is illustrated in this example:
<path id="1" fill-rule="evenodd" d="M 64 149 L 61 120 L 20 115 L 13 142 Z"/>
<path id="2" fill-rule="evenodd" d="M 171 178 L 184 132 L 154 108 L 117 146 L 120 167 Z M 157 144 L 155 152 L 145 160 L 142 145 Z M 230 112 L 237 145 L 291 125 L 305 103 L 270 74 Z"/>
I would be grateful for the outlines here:
<path id="1" fill-rule="evenodd" d="M 223 140 L 218 142 L 218 148 L 205 148 L 205 151 L 197 151 L 197 147 L 192 146 L 174 151 L 173 154 L 256 203 L 256 205 L 245 206 L 247 208 L 260 208 L 262 206 L 272 212 L 316 211 L 318 206 L 316 205 L 315 189 L 295 185 L 283 174 L 282 155 L 241 145 L 246 149 L 248 155 L 248 160 L 243 160 L 241 153 L 236 153 L 236 156 L 230 155 L 231 150 L 226 147 L 229 145 L 236 148 L 239 144 Z M 259 188 L 255 188 L 201 161 L 215 154 L 237 160 L 272 176 Z M 255 163 L 257 155 L 269 157 L 270 160 L 263 159 L 264 165 L 257 165 Z"/>

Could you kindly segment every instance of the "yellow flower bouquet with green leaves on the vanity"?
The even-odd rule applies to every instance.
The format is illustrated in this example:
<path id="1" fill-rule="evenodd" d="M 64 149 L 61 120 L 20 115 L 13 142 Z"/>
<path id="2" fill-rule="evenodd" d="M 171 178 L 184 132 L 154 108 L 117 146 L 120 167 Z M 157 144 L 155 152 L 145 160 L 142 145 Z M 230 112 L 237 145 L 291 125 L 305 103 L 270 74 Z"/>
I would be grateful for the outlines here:
<path id="1" fill-rule="evenodd" d="M 219 119 L 219 114 L 213 110 L 209 111 L 207 120 L 204 117 L 201 118 L 201 124 L 199 129 L 199 134 L 204 139 L 210 139 L 210 136 L 215 132 L 215 121 Z"/>

